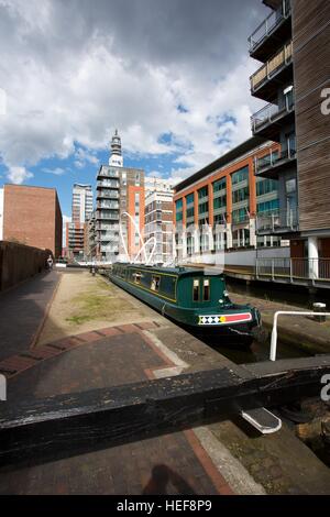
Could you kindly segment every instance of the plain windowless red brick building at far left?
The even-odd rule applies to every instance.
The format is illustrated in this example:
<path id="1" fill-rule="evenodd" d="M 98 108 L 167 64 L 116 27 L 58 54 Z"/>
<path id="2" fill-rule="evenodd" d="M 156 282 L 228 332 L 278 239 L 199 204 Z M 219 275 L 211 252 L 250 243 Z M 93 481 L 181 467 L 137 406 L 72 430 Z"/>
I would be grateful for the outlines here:
<path id="1" fill-rule="evenodd" d="M 62 255 L 62 211 L 55 188 L 4 185 L 3 240 Z"/>

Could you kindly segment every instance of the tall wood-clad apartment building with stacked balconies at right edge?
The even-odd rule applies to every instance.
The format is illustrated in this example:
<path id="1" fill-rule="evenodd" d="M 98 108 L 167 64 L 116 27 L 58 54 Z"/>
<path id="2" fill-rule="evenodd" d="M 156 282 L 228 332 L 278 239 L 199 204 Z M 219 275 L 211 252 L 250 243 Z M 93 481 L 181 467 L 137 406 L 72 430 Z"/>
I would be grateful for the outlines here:
<path id="1" fill-rule="evenodd" d="M 321 109 L 330 86 L 330 2 L 263 3 L 271 12 L 249 42 L 262 63 L 251 94 L 266 105 L 252 131 L 279 147 L 256 158 L 255 175 L 278 182 L 278 207 L 257 216 L 256 232 L 289 239 L 300 276 L 330 278 L 330 114 Z"/>

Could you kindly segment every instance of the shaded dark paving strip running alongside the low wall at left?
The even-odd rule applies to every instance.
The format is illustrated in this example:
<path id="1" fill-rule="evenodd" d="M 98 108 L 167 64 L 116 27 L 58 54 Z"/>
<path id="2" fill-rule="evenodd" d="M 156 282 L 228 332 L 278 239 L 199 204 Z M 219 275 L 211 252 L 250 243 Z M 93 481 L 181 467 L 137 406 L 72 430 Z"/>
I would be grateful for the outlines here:
<path id="1" fill-rule="evenodd" d="M 33 343 L 59 277 L 44 273 L 0 294 L 0 360 Z"/>

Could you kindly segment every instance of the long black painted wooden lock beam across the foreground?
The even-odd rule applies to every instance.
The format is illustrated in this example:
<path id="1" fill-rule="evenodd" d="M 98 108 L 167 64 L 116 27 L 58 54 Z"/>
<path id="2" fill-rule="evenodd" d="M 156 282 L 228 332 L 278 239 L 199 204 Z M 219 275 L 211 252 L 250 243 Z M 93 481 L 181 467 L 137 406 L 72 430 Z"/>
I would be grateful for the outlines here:
<path id="1" fill-rule="evenodd" d="M 0 465 L 36 464 L 318 396 L 330 355 L 211 370 L 0 406 Z"/>

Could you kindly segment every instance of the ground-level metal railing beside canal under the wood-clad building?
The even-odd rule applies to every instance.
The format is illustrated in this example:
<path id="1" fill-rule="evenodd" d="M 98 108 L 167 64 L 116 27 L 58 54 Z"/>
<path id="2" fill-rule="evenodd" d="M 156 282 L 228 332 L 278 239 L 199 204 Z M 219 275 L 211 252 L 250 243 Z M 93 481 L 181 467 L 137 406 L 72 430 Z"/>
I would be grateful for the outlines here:
<path id="1" fill-rule="evenodd" d="M 330 258 L 257 258 L 256 277 L 330 282 Z"/>

